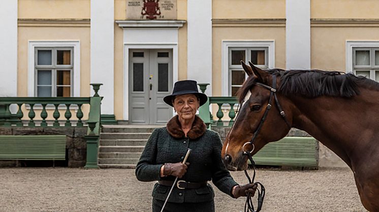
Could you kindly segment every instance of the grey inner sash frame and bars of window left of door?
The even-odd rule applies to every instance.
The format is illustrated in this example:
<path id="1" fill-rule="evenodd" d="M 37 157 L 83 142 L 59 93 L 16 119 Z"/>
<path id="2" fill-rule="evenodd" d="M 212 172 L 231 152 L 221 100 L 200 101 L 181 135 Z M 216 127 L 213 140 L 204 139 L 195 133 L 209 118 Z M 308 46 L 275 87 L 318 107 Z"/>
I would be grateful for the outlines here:
<path id="1" fill-rule="evenodd" d="M 52 64 L 51 65 L 38 65 L 38 56 L 35 57 L 35 97 L 38 97 L 38 71 L 39 70 L 50 70 L 51 71 L 51 97 L 57 97 L 57 87 L 70 87 L 70 97 L 73 97 L 73 68 L 74 68 L 74 55 L 73 55 L 73 48 L 72 47 L 36 47 L 35 48 L 35 55 L 38 54 L 39 50 L 51 50 L 52 55 Z M 70 51 L 70 65 L 57 65 L 57 51 Z M 70 70 L 70 86 L 58 86 L 56 84 L 56 74 L 58 70 Z"/>

